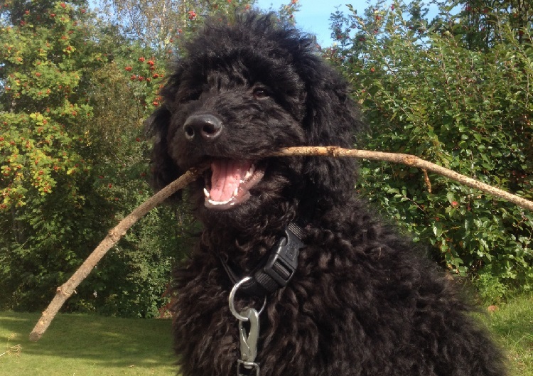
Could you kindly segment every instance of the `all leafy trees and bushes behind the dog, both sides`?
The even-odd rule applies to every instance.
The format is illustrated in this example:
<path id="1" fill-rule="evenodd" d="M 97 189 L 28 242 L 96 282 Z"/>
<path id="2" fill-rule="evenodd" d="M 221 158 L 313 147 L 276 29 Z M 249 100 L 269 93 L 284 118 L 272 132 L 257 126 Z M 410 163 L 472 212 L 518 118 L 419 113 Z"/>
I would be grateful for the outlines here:
<path id="1" fill-rule="evenodd" d="M 416 154 L 533 198 L 532 10 L 523 1 L 373 1 L 335 12 L 323 55 L 350 80 L 367 149 Z M 0 7 L 0 309 L 39 311 L 107 230 L 149 198 L 143 122 L 184 38 L 254 1 L 6 0 Z M 165 17 L 161 7 L 167 11 Z M 293 21 L 298 1 L 278 16 Z M 533 216 L 439 176 L 362 162 L 356 189 L 451 272 L 500 301 L 531 289 Z M 66 311 L 152 317 L 195 224 L 152 211 Z"/>

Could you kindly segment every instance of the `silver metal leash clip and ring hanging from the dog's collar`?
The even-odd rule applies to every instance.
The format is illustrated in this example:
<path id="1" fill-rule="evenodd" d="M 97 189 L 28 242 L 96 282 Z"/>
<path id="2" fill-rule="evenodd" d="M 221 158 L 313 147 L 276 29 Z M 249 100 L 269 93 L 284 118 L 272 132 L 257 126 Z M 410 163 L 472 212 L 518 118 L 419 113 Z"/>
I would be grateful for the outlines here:
<path id="1" fill-rule="evenodd" d="M 262 308 L 257 312 L 254 308 L 244 308 L 240 313 L 235 310 L 235 294 L 239 286 L 249 281 L 247 276 L 237 282 L 230 293 L 230 311 L 239 321 L 239 350 L 241 358 L 237 360 L 237 376 L 250 376 L 255 373 L 259 376 L 259 365 L 254 362 L 257 357 L 257 340 L 259 340 L 259 315 L 262 313 L 265 305 L 264 300 Z M 247 333 L 244 323 L 249 322 L 249 331 Z M 254 372 L 255 371 L 255 372 Z"/>

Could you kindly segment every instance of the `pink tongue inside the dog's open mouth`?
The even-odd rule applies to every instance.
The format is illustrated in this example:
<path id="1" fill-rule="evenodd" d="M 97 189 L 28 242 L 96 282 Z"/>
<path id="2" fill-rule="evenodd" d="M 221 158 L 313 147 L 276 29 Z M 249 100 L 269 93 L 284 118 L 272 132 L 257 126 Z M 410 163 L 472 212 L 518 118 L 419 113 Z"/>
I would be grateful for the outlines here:
<path id="1" fill-rule="evenodd" d="M 211 163 L 211 200 L 224 202 L 233 197 L 235 188 L 246 175 L 252 163 L 222 159 Z"/>

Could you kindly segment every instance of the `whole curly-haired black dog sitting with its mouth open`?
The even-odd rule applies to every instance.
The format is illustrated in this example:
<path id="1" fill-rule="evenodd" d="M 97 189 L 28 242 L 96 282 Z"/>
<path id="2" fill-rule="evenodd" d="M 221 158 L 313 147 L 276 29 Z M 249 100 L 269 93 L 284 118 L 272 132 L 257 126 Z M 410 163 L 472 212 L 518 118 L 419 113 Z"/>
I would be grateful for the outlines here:
<path id="1" fill-rule="evenodd" d="M 156 187 L 210 163 L 188 190 L 203 232 L 175 273 L 181 374 L 505 375 L 452 282 L 355 197 L 352 159 L 268 156 L 351 148 L 360 114 L 312 38 L 237 18 L 186 45 L 149 119 Z"/>

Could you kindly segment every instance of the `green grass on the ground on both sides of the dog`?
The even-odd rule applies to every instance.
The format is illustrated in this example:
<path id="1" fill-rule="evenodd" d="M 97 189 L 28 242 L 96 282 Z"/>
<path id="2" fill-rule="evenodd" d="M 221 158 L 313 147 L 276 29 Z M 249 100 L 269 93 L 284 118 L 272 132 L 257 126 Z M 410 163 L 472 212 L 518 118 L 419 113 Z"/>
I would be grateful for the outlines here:
<path id="1" fill-rule="evenodd" d="M 0 356 L 0 376 L 176 375 L 170 320 L 63 314 L 33 343 L 28 335 L 38 318 L 0 312 L 0 354 L 13 350 Z M 482 320 L 507 351 L 512 375 L 533 376 L 533 295 L 517 296 Z"/>

